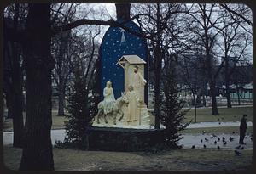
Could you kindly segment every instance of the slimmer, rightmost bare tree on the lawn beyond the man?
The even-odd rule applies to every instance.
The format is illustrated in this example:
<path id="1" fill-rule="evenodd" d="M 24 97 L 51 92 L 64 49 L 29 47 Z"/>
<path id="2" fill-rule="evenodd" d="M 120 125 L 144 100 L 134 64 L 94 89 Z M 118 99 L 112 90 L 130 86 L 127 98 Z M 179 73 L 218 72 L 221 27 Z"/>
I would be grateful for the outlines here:
<path id="1" fill-rule="evenodd" d="M 222 7 L 226 7 L 226 5 L 221 5 Z M 233 5 L 240 6 L 238 4 Z M 225 8 L 226 9 L 226 8 Z M 242 14 L 245 9 L 242 8 L 240 11 L 236 11 L 236 13 Z M 230 79 L 234 71 L 236 70 L 236 66 L 246 59 L 247 47 L 252 44 L 252 35 L 251 35 L 251 26 L 247 25 L 247 22 L 242 22 L 243 17 L 241 15 L 230 16 L 230 11 L 224 11 L 224 25 L 228 25 L 229 23 L 233 23 L 233 21 L 237 21 L 235 24 L 228 25 L 224 30 L 220 32 L 218 46 L 224 56 L 224 85 L 226 89 L 225 96 L 227 98 L 227 107 L 231 108 L 231 98 L 230 98 Z M 249 21 L 249 20 L 248 20 Z M 241 27 L 241 24 L 243 27 Z M 244 30 L 244 28 L 247 28 Z"/>

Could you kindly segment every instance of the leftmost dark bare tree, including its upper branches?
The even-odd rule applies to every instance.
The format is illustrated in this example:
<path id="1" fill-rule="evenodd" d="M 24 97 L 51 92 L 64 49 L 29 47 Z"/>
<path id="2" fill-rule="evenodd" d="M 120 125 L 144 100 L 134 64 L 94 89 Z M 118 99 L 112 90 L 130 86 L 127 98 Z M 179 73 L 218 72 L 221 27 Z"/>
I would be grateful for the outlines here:
<path id="1" fill-rule="evenodd" d="M 5 10 L 4 18 L 4 92 L 8 104 L 8 115 L 13 119 L 14 147 L 23 145 L 23 73 L 22 73 L 22 49 L 19 42 L 12 41 L 7 27 L 13 27 L 14 31 L 22 29 L 25 20 L 26 5 L 12 4 Z"/>

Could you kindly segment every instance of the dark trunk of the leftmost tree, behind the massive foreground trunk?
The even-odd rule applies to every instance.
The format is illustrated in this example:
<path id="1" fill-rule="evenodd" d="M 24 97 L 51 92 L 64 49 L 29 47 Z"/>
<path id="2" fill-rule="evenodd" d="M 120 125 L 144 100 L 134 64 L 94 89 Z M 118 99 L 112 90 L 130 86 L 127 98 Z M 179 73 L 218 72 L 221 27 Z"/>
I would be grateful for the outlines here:
<path id="1" fill-rule="evenodd" d="M 18 17 L 20 5 L 15 4 L 14 29 L 18 30 Z M 5 23 L 7 27 L 7 23 Z M 9 41 L 7 29 L 4 31 L 4 51 L 5 51 L 5 92 L 8 105 L 9 117 L 13 118 L 14 147 L 23 145 L 23 115 L 22 115 L 22 82 L 20 68 L 20 50 L 17 42 Z"/>

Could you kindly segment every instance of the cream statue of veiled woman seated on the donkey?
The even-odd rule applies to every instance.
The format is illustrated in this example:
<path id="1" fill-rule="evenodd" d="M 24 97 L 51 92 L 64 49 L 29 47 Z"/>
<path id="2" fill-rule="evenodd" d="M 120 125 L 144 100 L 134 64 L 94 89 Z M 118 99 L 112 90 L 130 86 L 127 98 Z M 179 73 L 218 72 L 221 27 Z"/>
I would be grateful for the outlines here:
<path id="1" fill-rule="evenodd" d="M 103 100 L 104 114 L 108 115 L 108 113 L 113 111 L 114 103 L 115 103 L 112 83 L 110 81 L 106 83 L 106 87 L 103 90 L 103 96 L 104 96 L 104 100 Z"/>

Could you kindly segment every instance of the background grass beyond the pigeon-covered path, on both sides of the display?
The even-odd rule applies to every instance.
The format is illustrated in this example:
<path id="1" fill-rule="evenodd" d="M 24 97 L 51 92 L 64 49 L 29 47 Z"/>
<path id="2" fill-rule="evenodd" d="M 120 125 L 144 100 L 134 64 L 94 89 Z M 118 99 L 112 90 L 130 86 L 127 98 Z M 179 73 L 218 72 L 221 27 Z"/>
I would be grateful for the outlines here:
<path id="1" fill-rule="evenodd" d="M 247 114 L 247 121 L 253 121 L 253 106 L 237 107 L 237 108 L 219 108 L 219 115 L 211 115 L 211 108 L 197 109 L 197 122 L 237 122 L 241 120 L 241 115 Z M 25 114 L 24 114 L 25 115 Z M 24 116 L 25 117 L 25 116 Z M 184 122 L 191 121 L 194 123 L 194 109 L 190 109 L 185 115 Z M 64 122 L 67 121 L 66 117 L 57 116 L 57 109 L 52 110 L 52 129 L 64 129 Z M 3 131 L 12 131 L 12 120 L 7 119 L 3 122 Z M 238 126 L 229 127 L 207 127 L 207 128 L 193 128 L 186 129 L 182 133 L 201 133 L 205 131 L 207 133 L 231 133 L 239 132 Z M 253 132 L 253 126 L 248 126 L 247 132 Z"/>

